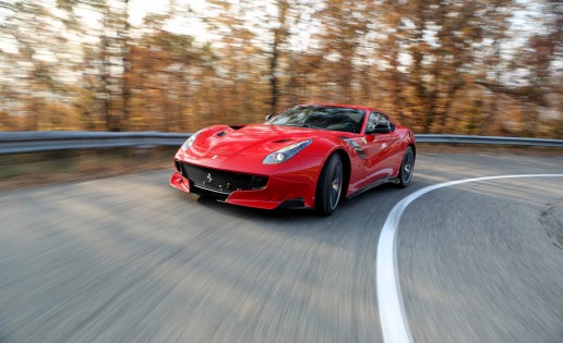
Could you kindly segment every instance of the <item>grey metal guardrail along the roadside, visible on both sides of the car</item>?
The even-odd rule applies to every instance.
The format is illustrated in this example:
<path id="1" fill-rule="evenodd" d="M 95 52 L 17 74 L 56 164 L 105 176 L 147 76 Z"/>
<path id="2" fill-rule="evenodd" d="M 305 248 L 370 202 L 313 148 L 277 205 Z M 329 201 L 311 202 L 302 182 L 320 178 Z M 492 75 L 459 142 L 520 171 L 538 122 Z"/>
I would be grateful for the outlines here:
<path id="1" fill-rule="evenodd" d="M 0 132 L 0 155 L 76 149 L 153 148 L 180 146 L 190 133 L 161 132 Z M 563 148 L 563 139 L 489 137 L 467 135 L 416 135 L 418 143 L 488 144 Z"/>

